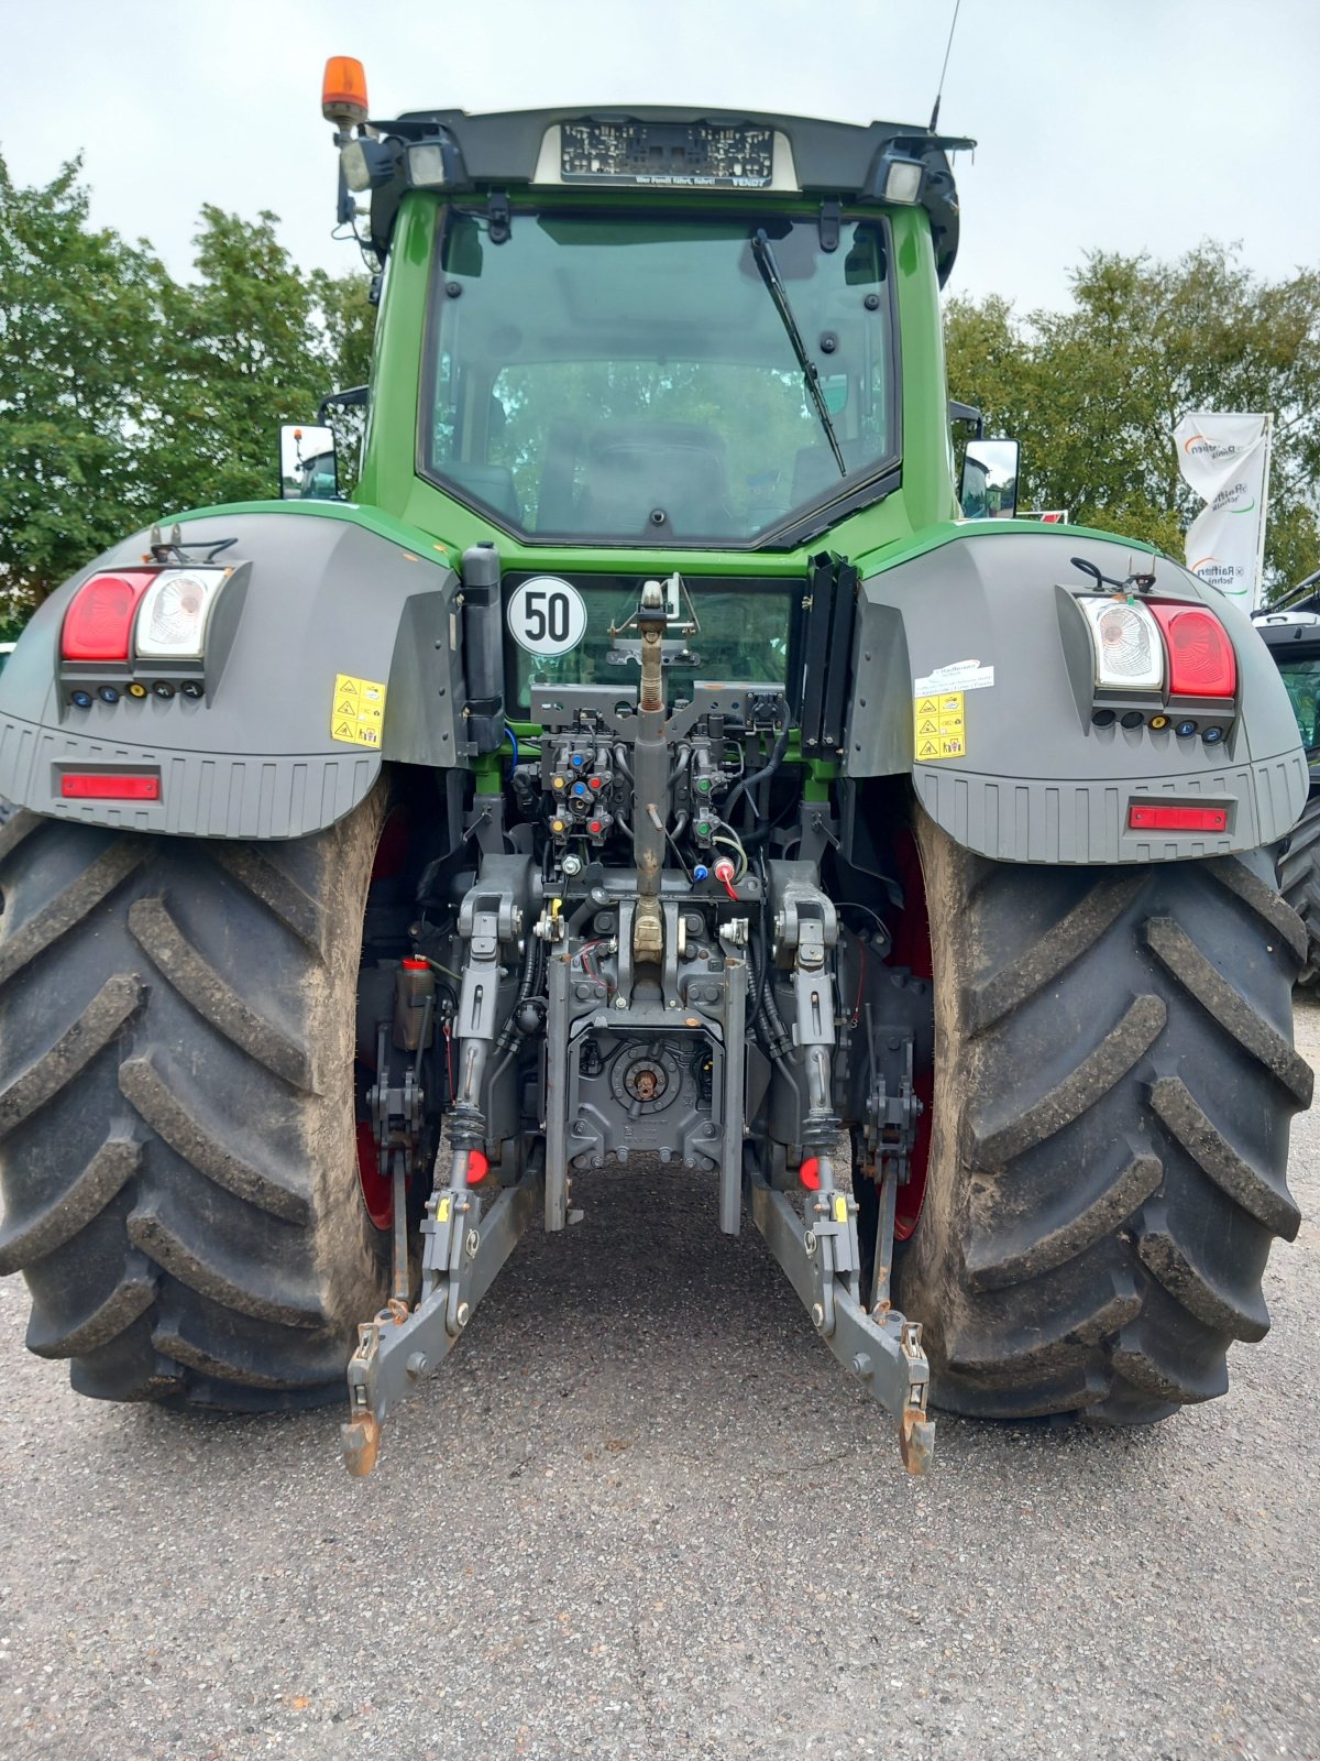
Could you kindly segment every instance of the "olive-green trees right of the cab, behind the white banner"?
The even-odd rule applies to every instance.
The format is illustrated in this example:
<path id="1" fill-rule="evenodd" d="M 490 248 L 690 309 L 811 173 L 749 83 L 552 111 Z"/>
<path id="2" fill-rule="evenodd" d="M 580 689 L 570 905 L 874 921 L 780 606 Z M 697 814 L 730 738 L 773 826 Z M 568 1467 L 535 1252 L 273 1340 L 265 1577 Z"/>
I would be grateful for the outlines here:
<path id="1" fill-rule="evenodd" d="M 1260 282 L 1202 245 L 1177 262 L 1093 254 L 1067 312 L 1017 322 L 998 298 L 950 301 L 949 389 L 1023 442 L 1023 500 L 1172 555 L 1199 511 L 1172 442 L 1193 409 L 1274 410 L 1265 571 L 1320 562 L 1320 271 Z"/>

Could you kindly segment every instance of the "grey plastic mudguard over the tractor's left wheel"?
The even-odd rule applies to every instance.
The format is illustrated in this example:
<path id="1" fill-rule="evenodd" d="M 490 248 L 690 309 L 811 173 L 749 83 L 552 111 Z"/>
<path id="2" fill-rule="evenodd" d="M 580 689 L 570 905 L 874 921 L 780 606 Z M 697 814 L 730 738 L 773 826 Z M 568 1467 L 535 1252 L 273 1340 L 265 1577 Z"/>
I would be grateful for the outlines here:
<path id="1" fill-rule="evenodd" d="M 245 592 L 206 699 L 121 697 L 90 710 L 62 701 L 69 601 L 95 571 L 141 564 L 146 534 L 106 551 L 39 608 L 0 676 L 0 796 L 134 831 L 297 838 L 350 812 L 382 759 L 466 763 L 459 583 L 447 560 L 352 516 L 216 512 L 183 525 L 195 562 L 222 539 L 234 542 L 216 562 L 246 565 Z M 340 673 L 385 685 L 378 750 L 333 738 Z M 158 768 L 162 799 L 62 799 L 65 770 L 116 764 Z"/>

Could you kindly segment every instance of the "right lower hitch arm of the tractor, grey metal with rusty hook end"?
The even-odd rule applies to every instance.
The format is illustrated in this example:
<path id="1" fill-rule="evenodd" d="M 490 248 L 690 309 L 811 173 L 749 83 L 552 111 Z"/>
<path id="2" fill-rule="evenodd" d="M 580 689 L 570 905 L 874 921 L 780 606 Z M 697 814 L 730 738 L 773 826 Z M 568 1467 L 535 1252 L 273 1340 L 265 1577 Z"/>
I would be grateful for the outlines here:
<path id="1" fill-rule="evenodd" d="M 868 1314 L 857 1298 L 857 1206 L 838 1190 L 808 1194 L 808 1222 L 783 1192 L 750 1176 L 752 1217 L 788 1275 L 811 1323 L 840 1363 L 898 1419 L 898 1444 L 910 1474 L 924 1474 L 935 1453 L 935 1419 L 926 1416 L 931 1367 L 920 1324 L 887 1301 Z"/>

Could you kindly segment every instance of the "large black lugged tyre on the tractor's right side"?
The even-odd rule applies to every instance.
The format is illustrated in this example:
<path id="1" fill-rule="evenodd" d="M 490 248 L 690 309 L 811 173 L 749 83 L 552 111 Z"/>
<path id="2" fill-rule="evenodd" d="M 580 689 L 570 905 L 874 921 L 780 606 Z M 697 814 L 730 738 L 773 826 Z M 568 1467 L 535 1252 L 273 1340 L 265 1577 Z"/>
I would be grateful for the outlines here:
<path id="1" fill-rule="evenodd" d="M 924 1206 L 896 1300 L 931 1400 L 1142 1425 L 1225 1393 L 1297 1234 L 1306 953 L 1264 854 L 1028 868 L 917 824 L 935 954 Z"/>

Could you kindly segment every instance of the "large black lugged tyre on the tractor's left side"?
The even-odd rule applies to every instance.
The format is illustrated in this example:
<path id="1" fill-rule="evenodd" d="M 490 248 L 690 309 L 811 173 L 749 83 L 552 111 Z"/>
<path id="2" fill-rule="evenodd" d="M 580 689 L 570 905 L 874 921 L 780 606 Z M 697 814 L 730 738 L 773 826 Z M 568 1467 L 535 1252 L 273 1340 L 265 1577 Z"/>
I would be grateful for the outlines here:
<path id="1" fill-rule="evenodd" d="M 0 831 L 0 1271 L 106 1400 L 343 1393 L 382 1303 L 354 1006 L 385 815 L 287 844 Z"/>

